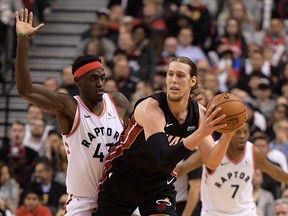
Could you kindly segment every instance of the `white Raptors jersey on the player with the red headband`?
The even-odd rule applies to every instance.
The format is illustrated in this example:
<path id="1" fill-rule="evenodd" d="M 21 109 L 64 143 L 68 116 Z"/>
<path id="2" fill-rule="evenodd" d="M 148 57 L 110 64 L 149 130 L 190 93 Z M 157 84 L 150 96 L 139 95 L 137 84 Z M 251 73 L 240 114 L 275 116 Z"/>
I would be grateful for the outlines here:
<path id="1" fill-rule="evenodd" d="M 98 183 L 110 147 L 123 131 L 122 120 L 110 95 L 103 95 L 103 111 L 97 116 L 89 111 L 79 96 L 71 132 L 63 135 L 68 158 L 67 193 L 97 198 Z"/>

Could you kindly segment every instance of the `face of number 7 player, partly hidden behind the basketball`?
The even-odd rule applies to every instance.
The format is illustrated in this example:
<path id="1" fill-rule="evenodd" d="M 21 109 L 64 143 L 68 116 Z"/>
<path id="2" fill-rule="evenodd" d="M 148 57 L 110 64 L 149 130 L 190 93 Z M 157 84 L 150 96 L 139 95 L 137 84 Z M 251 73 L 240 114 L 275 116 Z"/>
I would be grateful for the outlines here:
<path id="1" fill-rule="evenodd" d="M 234 149 L 234 150 L 239 150 L 242 151 L 245 149 L 245 145 L 246 142 L 249 139 L 249 127 L 248 124 L 246 123 L 242 128 L 240 128 L 239 130 L 237 130 L 231 141 L 230 141 L 230 146 Z"/>

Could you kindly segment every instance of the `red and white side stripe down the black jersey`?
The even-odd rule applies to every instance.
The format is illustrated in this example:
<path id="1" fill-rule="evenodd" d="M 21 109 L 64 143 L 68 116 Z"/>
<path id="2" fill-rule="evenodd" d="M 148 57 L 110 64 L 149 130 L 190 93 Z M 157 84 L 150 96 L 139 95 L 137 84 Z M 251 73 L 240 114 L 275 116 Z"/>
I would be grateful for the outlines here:
<path id="1" fill-rule="evenodd" d="M 141 131 L 143 131 L 143 127 L 135 121 L 133 116 L 129 122 L 129 125 L 125 129 L 124 134 L 121 135 L 118 145 L 111 148 L 111 152 L 106 158 L 104 172 L 101 182 L 99 183 L 99 191 L 102 190 L 103 182 L 107 179 L 106 174 L 112 167 L 112 161 L 121 156 L 125 149 L 130 148 Z"/>

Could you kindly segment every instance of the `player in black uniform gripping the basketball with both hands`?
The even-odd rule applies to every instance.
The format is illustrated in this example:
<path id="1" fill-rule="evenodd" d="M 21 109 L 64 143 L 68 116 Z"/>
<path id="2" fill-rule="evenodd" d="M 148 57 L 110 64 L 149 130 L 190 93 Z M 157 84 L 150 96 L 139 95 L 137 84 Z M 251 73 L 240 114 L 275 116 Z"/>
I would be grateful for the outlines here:
<path id="1" fill-rule="evenodd" d="M 173 182 L 176 164 L 198 146 L 206 166 L 221 162 L 233 133 L 222 134 L 215 145 L 212 112 L 190 97 L 197 89 L 197 68 L 186 57 L 168 65 L 167 93 L 161 92 L 135 105 L 134 114 L 108 156 L 100 183 L 97 216 L 128 216 L 138 206 L 141 216 L 176 215 Z M 214 119 L 214 120 L 213 120 Z"/>

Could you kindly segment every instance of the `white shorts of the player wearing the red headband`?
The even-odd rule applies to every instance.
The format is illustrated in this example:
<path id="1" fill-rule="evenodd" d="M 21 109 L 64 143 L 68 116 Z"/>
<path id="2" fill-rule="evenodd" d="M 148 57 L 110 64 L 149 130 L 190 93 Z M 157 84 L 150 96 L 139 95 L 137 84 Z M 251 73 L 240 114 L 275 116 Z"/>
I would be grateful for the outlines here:
<path id="1" fill-rule="evenodd" d="M 64 216 L 91 216 L 97 207 L 96 198 L 78 197 L 69 194 L 66 201 Z"/>

